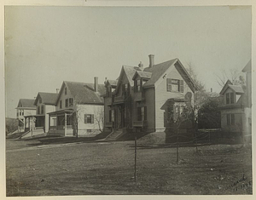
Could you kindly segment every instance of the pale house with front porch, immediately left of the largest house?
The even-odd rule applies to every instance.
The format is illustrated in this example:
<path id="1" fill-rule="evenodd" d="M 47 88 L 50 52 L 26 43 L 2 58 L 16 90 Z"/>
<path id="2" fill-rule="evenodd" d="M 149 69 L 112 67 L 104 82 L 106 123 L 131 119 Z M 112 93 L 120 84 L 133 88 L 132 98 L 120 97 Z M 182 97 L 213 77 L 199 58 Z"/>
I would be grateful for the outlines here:
<path id="1" fill-rule="evenodd" d="M 92 136 L 103 127 L 104 84 L 64 81 L 55 101 L 55 111 L 49 112 L 49 134 Z M 55 118 L 56 123 L 51 123 Z"/>

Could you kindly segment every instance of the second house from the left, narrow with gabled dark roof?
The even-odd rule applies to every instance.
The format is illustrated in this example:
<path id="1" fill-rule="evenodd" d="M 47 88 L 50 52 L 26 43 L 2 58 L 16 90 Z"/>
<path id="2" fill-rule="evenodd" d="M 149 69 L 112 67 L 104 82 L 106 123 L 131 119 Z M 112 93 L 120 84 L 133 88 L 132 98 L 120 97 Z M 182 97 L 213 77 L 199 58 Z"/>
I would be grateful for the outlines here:
<path id="1" fill-rule="evenodd" d="M 33 134 L 43 134 L 49 131 L 49 111 L 55 111 L 55 101 L 58 94 L 55 93 L 43 93 L 39 92 L 36 100 L 34 100 L 34 106 L 36 107 L 36 113 L 34 115 L 25 116 L 26 122 L 33 122 L 32 125 L 26 123 L 26 131 L 34 131 Z M 55 123 L 55 119 L 51 119 Z"/>

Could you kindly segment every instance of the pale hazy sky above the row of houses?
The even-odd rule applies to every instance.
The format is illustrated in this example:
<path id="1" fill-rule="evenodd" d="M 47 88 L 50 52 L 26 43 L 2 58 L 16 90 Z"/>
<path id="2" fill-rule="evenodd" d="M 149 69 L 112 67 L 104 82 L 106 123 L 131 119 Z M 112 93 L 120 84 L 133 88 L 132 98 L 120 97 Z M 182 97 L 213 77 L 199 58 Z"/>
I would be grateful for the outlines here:
<path id="1" fill-rule="evenodd" d="M 116 79 L 123 65 L 178 58 L 208 91 L 251 59 L 250 7 L 5 7 L 6 117 L 63 81 Z"/>

